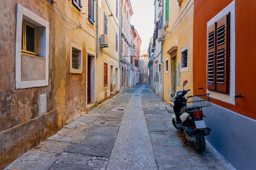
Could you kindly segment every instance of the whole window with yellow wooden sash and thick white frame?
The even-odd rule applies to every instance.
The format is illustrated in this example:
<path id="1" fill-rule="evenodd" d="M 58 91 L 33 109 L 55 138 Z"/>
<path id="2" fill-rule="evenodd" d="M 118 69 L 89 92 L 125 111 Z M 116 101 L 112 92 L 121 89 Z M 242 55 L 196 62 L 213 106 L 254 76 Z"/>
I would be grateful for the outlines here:
<path id="1" fill-rule="evenodd" d="M 48 86 L 49 22 L 16 4 L 16 89 Z"/>

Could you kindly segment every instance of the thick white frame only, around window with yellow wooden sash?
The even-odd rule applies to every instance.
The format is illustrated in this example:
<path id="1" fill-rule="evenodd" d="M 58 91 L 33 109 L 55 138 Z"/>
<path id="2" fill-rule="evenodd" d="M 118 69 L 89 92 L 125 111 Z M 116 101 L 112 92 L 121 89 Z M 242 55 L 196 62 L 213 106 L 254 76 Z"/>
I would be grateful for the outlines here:
<path id="1" fill-rule="evenodd" d="M 20 4 L 16 4 L 16 42 L 15 42 L 15 88 L 48 86 L 49 84 L 49 22 Z M 21 40 L 22 21 L 38 26 L 38 55 L 45 58 L 45 79 L 21 81 Z"/>

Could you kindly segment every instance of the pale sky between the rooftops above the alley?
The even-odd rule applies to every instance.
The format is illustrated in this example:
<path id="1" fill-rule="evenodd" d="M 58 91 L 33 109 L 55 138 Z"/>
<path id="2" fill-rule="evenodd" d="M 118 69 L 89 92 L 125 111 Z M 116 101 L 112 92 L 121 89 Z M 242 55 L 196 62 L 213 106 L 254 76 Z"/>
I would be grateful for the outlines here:
<path id="1" fill-rule="evenodd" d="M 154 0 L 130 0 L 133 15 L 130 24 L 134 25 L 141 38 L 141 51 L 148 49 L 154 33 Z"/>

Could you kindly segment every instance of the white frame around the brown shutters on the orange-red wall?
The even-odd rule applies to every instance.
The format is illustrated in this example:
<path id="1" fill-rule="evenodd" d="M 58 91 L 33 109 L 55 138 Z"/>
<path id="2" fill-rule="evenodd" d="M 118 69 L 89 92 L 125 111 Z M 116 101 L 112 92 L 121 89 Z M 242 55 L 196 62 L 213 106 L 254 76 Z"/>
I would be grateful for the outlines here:
<path id="1" fill-rule="evenodd" d="M 226 102 L 229 104 L 233 104 L 235 105 L 235 58 L 236 58 L 236 53 L 235 53 L 235 44 L 236 44 L 236 37 L 235 37 L 235 0 L 233 0 L 229 5 L 227 5 L 227 7 L 225 7 L 224 9 L 222 9 L 222 11 L 220 11 L 217 15 L 215 15 L 211 20 L 209 20 L 207 22 L 207 28 L 209 26 L 211 26 L 214 22 L 217 22 L 218 20 L 220 20 L 220 18 L 222 18 L 223 16 L 225 16 L 227 13 L 230 12 L 230 25 L 229 25 L 229 30 L 230 30 L 230 60 L 229 60 L 229 68 L 230 68 L 230 73 L 229 73 L 229 95 L 227 94 L 223 94 L 223 93 L 218 93 L 215 91 L 209 91 L 207 89 L 207 93 L 211 94 L 211 98 L 220 100 L 222 102 Z M 207 32 L 208 35 L 208 32 Z M 208 36 L 206 36 L 206 38 L 208 38 Z M 206 44 L 207 46 L 208 44 Z M 208 48 L 208 47 L 206 47 Z M 207 53 L 206 53 L 207 56 Z M 206 63 L 207 64 L 207 63 Z M 207 73 L 207 71 L 206 71 Z M 207 76 L 207 75 L 206 75 Z"/>

